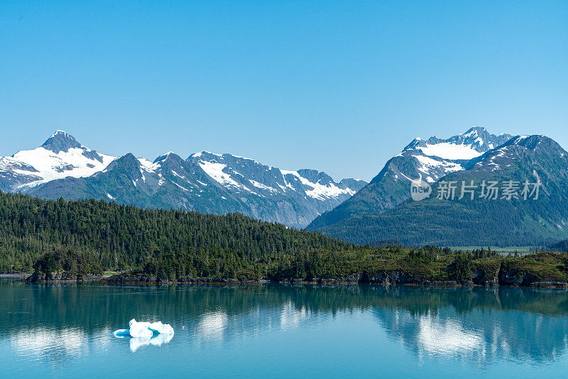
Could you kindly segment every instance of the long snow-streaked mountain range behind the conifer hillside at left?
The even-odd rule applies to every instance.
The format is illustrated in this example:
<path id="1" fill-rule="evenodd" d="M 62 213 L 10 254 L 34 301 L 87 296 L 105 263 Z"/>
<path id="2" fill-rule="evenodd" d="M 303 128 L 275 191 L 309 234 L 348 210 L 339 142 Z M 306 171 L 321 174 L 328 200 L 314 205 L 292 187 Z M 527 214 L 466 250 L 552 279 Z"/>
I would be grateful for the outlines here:
<path id="1" fill-rule="evenodd" d="M 366 182 L 317 170 L 281 170 L 230 154 L 175 153 L 151 162 L 97 153 L 58 131 L 40 148 L 0 160 L 0 189 L 57 199 L 107 199 L 139 207 L 226 214 L 305 227 Z"/>

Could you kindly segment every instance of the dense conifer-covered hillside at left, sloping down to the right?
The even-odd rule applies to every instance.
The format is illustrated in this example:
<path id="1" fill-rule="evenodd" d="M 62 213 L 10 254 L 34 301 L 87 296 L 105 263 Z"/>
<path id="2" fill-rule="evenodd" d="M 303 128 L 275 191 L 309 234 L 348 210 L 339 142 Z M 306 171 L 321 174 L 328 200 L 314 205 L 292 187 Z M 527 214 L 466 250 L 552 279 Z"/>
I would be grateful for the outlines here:
<path id="1" fill-rule="evenodd" d="M 104 200 L 43 200 L 0 192 L 0 272 L 30 272 L 43 253 L 72 248 L 102 268 L 168 262 L 175 275 L 233 274 L 252 263 L 354 248 L 319 233 L 241 214 L 140 209 Z"/>

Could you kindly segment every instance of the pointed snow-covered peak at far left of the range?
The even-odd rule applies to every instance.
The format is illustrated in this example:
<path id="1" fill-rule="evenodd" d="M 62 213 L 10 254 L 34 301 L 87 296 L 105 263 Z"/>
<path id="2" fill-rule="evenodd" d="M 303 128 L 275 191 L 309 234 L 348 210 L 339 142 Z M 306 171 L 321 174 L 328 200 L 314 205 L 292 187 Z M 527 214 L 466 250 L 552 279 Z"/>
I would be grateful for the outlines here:
<path id="1" fill-rule="evenodd" d="M 35 186 L 68 176 L 87 177 L 114 159 L 81 145 L 65 131 L 56 131 L 39 148 L 0 158 L 0 189 Z"/>

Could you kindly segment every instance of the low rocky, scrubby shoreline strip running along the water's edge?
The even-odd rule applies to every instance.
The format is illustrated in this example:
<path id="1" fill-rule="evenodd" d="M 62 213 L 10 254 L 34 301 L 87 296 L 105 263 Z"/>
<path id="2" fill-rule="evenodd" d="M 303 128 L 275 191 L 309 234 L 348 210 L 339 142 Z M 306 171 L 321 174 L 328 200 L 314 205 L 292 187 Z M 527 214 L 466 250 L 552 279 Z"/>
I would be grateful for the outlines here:
<path id="1" fill-rule="evenodd" d="M 177 280 L 162 276 L 128 270 L 108 275 L 71 275 L 65 271 L 55 273 L 33 273 L 32 275 L 10 274 L 10 278 L 21 278 L 27 282 L 104 282 L 109 284 L 190 284 L 190 285 L 242 285 L 264 283 L 290 284 L 329 284 L 329 285 L 427 285 L 427 286 L 484 286 L 484 287 L 560 287 L 568 288 L 565 274 L 567 257 L 561 253 L 544 253 L 525 258 L 481 260 L 460 273 L 462 280 L 452 278 L 452 274 L 427 265 L 410 265 L 374 270 L 372 273 L 361 270 L 338 278 L 293 278 L 288 276 L 222 278 L 222 277 L 184 277 Z M 438 266 L 439 267 L 439 266 Z M 114 275 L 110 275 L 114 274 Z"/>

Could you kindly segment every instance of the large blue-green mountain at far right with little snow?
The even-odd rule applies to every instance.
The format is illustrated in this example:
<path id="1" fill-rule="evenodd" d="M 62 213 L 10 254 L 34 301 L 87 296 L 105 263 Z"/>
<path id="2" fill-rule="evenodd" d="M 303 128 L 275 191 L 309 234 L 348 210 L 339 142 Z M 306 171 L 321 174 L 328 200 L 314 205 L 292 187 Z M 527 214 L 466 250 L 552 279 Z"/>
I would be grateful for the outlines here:
<path id="1" fill-rule="evenodd" d="M 568 237 L 568 153 L 555 141 L 518 136 L 463 166 L 432 185 L 428 199 L 320 230 L 357 243 L 442 246 L 545 246 Z M 464 185 L 474 193 L 462 197 Z"/>

